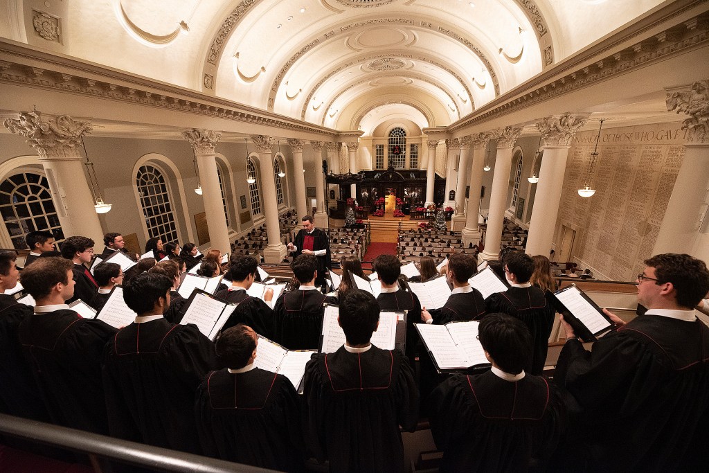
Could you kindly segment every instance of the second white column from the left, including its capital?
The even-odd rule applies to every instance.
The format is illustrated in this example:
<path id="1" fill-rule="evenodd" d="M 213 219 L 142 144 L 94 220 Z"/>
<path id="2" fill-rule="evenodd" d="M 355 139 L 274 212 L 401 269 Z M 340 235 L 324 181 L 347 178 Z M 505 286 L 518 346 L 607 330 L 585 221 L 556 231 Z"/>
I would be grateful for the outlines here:
<path id="1" fill-rule="evenodd" d="M 217 163 L 214 157 L 214 148 L 221 138 L 221 133 L 191 128 L 182 132 L 182 138 L 192 145 L 194 157 L 197 160 L 199 180 L 202 186 L 204 216 L 209 231 L 209 244 L 213 250 L 220 250 L 222 253 L 231 252 L 229 229 L 224 215 Z"/>

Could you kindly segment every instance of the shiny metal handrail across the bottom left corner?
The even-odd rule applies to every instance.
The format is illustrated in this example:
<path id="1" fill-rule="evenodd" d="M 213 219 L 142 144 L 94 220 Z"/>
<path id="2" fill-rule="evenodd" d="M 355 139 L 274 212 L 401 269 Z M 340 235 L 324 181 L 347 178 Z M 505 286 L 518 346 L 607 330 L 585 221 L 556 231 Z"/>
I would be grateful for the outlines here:
<path id="1" fill-rule="evenodd" d="M 30 421 L 19 417 L 0 414 L 0 433 L 33 443 L 53 445 L 74 452 L 116 460 L 121 463 L 147 467 L 167 472 L 199 473 L 264 473 L 274 470 L 252 467 L 245 464 L 215 460 L 167 448 L 152 447 L 142 443 L 129 442 L 96 433 L 73 428 L 60 427 L 48 423 Z M 99 462 L 99 471 L 110 472 L 107 462 Z M 94 464 L 94 467 L 99 465 Z"/>

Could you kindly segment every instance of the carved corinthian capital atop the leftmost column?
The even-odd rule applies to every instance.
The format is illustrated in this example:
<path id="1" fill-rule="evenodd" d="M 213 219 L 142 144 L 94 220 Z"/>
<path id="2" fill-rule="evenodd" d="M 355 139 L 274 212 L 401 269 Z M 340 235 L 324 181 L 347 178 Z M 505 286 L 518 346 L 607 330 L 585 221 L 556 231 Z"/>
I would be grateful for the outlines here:
<path id="1" fill-rule="evenodd" d="M 5 128 L 27 138 L 26 143 L 37 150 L 40 159 L 77 157 L 74 148 L 82 143 L 84 133 L 91 131 L 91 122 L 74 121 L 67 115 L 48 115 L 38 111 L 21 112 L 19 118 L 7 118 Z"/>

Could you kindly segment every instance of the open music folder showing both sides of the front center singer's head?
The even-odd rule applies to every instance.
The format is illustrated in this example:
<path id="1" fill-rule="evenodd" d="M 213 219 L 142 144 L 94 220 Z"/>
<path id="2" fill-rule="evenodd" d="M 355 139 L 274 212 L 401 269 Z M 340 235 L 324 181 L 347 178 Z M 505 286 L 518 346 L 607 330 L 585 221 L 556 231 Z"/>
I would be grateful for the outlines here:
<path id="1" fill-rule="evenodd" d="M 338 306 L 325 306 L 323 328 L 320 330 L 320 352 L 333 353 L 345 345 L 345 332 L 337 323 L 340 314 Z M 379 313 L 379 327 L 372 333 L 372 344 L 382 350 L 406 350 L 406 313 Z"/>

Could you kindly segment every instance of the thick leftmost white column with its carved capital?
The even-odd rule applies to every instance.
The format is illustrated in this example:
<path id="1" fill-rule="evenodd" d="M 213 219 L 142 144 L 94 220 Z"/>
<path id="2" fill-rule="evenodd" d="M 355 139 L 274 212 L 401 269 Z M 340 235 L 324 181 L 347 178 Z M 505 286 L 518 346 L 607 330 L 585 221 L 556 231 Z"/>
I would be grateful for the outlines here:
<path id="1" fill-rule="evenodd" d="M 84 134 L 91 132 L 91 123 L 32 111 L 21 112 L 19 119 L 8 118 L 4 124 L 37 150 L 65 237 L 82 235 L 101 245 L 104 231 L 86 182 L 84 157 L 77 149 Z"/>

